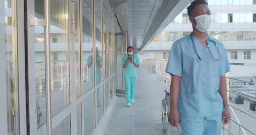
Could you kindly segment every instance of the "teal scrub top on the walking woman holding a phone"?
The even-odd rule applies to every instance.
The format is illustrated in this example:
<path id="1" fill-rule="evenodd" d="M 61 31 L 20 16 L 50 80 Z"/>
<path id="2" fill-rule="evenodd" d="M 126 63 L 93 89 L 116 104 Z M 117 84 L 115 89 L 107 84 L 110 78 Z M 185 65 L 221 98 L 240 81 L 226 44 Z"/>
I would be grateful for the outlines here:
<path id="1" fill-rule="evenodd" d="M 125 64 L 125 61 L 127 60 L 128 55 L 125 55 L 123 60 L 122 60 L 122 65 Z M 139 59 L 139 57 L 137 55 L 133 55 L 132 59 L 137 63 L 137 64 L 141 64 L 141 61 Z M 136 66 L 129 61 L 127 63 L 127 66 L 125 67 L 124 70 L 124 77 L 131 77 L 131 78 L 137 78 L 137 70 L 136 70 Z"/>

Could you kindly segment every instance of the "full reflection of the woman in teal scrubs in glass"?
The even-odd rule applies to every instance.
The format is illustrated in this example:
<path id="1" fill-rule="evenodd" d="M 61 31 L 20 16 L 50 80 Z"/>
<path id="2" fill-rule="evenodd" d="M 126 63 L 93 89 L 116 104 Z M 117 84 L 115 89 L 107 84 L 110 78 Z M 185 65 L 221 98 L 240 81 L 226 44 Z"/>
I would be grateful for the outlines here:
<path id="1" fill-rule="evenodd" d="M 96 47 L 96 84 L 99 84 L 101 81 L 101 77 L 102 77 L 102 57 L 98 54 L 98 48 Z M 90 79 L 92 81 L 92 84 L 94 82 L 94 66 L 93 66 L 93 48 L 92 48 L 92 55 L 90 55 L 87 59 L 87 63 L 88 68 L 90 68 L 90 72 L 89 72 L 89 76 Z M 97 105 L 98 105 L 98 98 L 99 98 L 99 89 L 100 87 L 98 87 L 97 89 Z"/>

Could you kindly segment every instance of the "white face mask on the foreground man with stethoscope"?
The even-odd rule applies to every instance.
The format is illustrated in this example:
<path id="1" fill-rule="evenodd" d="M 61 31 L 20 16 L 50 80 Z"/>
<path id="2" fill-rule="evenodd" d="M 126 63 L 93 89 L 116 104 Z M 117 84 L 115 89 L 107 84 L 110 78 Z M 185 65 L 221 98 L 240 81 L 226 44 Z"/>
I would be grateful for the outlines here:
<path id="1" fill-rule="evenodd" d="M 197 25 L 195 25 L 194 23 L 192 23 L 194 26 L 196 26 L 196 29 L 199 30 L 200 32 L 206 32 L 210 26 L 211 26 L 211 16 L 204 14 L 201 16 L 197 16 L 197 17 L 191 17 L 193 19 L 195 19 L 197 21 Z"/>

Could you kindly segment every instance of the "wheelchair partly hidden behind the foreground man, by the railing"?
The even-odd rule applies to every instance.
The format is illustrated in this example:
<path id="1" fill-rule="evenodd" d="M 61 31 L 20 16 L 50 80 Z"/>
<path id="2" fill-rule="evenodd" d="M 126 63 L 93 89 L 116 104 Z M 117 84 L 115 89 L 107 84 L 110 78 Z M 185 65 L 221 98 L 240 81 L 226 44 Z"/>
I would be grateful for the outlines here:
<path id="1" fill-rule="evenodd" d="M 164 90 L 164 92 L 165 92 L 165 96 L 164 96 L 164 99 L 162 100 L 161 118 L 162 118 L 164 131 L 167 132 L 170 126 L 168 122 L 168 117 L 170 112 L 171 96 L 170 96 L 170 93 L 167 92 L 167 90 Z M 178 126 L 177 128 L 182 134 L 181 126 Z"/>

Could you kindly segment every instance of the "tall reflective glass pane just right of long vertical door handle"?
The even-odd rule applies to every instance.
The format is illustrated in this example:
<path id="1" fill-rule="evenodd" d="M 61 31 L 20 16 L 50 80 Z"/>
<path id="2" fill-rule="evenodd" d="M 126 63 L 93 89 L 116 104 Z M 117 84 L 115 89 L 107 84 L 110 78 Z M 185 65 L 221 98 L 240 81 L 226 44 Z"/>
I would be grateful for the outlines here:
<path id="1" fill-rule="evenodd" d="M 52 114 L 69 105 L 68 0 L 50 0 L 50 78 Z"/>

